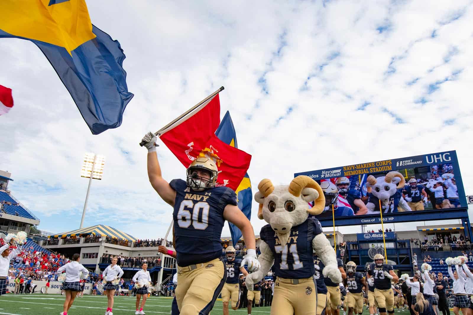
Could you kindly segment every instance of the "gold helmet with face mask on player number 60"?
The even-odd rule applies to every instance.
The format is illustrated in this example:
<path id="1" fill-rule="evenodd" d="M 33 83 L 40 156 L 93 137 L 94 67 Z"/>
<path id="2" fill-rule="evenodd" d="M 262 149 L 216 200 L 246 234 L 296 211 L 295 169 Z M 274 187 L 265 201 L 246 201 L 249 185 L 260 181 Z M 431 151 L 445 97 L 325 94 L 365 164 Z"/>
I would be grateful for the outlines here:
<path id="1" fill-rule="evenodd" d="M 193 173 L 194 170 L 204 170 L 209 173 L 209 178 L 204 178 Z M 193 190 L 204 190 L 206 188 L 215 187 L 217 177 L 219 176 L 219 169 L 212 159 L 206 156 L 199 156 L 187 168 L 187 186 Z"/>

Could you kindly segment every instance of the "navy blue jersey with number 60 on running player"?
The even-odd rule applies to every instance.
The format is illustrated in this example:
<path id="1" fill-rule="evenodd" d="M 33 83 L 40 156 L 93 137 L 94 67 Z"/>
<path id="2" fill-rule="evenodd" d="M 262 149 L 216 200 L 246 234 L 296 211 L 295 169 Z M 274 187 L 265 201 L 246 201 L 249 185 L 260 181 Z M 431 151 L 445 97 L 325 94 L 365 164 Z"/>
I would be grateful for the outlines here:
<path id="1" fill-rule="evenodd" d="M 219 258 L 223 210 L 227 204 L 237 204 L 235 191 L 223 186 L 194 191 L 182 179 L 173 179 L 169 185 L 176 191 L 173 218 L 177 264 L 184 267 Z"/>

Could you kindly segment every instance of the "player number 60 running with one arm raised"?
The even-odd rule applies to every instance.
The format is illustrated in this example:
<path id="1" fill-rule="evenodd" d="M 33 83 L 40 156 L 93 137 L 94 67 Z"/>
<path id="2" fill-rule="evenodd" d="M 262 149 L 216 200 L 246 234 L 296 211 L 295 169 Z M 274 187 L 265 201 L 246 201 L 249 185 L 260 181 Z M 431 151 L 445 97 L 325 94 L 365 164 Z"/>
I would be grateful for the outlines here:
<path id="1" fill-rule="evenodd" d="M 220 236 L 225 220 L 242 231 L 247 255 L 241 265 L 259 269 L 253 227 L 237 207 L 231 188 L 217 187 L 219 170 L 210 158 L 197 157 L 187 168 L 187 178 L 162 177 L 156 153 L 156 136 L 143 139 L 148 149 L 148 177 L 159 196 L 174 207 L 174 232 L 177 262 L 175 297 L 181 315 L 209 314 L 227 278 L 221 260 Z"/>

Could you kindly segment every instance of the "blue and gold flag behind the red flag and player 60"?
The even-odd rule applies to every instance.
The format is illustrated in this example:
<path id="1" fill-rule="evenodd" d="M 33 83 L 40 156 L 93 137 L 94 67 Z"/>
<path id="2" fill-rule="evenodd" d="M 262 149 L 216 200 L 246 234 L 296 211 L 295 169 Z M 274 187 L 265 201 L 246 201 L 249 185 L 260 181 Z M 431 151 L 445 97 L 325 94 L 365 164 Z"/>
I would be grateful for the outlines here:
<path id="1" fill-rule="evenodd" d="M 236 132 L 233 126 L 230 113 L 227 111 L 222 121 L 220 122 L 219 128 L 215 131 L 215 135 L 223 142 L 238 148 L 236 144 Z M 248 173 L 242 179 L 240 185 L 236 189 L 236 196 L 238 199 L 238 208 L 241 209 L 245 216 L 250 220 L 251 218 L 251 203 L 253 200 L 253 194 L 251 192 L 251 182 Z M 233 223 L 228 222 L 230 233 L 232 236 L 233 246 L 236 245 L 238 240 L 241 238 L 241 231 Z"/>

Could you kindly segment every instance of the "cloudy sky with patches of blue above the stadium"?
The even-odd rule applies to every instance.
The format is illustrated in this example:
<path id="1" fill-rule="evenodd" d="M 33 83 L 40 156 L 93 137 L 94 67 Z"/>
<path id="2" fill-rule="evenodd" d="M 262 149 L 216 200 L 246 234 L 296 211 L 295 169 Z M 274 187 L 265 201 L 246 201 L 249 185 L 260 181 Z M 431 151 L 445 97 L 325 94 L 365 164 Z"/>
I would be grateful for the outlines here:
<path id="1" fill-rule="evenodd" d="M 221 117 L 230 111 L 239 148 L 253 156 L 254 187 L 263 178 L 288 184 L 299 171 L 456 150 L 473 193 L 472 1 L 102 0 L 88 9 L 127 57 L 135 96 L 120 128 L 93 136 L 42 52 L 0 40 L 0 84 L 15 99 L 0 116 L 0 170 L 12 173 L 13 196 L 42 230 L 79 228 L 88 185 L 81 160 L 95 152 L 106 156 L 105 172 L 92 183 L 85 226 L 164 236 L 172 209 L 149 185 L 138 143 L 221 85 Z M 166 179 L 184 178 L 164 145 L 158 158 Z M 253 209 L 258 234 L 265 223 Z"/>

